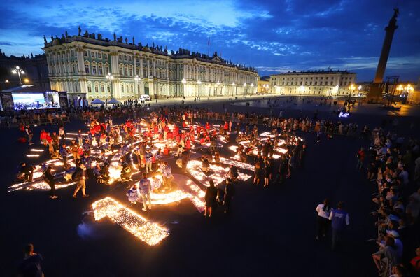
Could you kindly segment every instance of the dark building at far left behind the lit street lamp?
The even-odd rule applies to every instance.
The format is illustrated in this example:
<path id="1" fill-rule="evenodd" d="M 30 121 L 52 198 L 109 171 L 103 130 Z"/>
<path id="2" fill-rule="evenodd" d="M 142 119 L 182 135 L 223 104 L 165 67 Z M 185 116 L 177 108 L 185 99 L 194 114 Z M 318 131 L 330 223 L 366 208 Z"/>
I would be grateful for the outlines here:
<path id="1" fill-rule="evenodd" d="M 25 71 L 25 74 L 21 76 L 22 85 L 32 84 L 43 87 L 45 90 L 50 89 L 45 54 L 22 57 L 12 55 L 8 57 L 0 50 L 0 90 L 20 85 L 18 74 L 12 73 L 16 66 Z"/>

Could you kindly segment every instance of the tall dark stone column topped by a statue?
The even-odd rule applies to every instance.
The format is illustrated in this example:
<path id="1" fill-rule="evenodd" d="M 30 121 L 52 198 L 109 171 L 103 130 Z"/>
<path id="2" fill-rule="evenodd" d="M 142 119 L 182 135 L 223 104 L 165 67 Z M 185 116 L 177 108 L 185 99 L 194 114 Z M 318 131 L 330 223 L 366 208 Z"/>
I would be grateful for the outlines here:
<path id="1" fill-rule="evenodd" d="M 379 58 L 377 72 L 374 76 L 372 85 L 370 85 L 369 94 L 367 94 L 367 99 L 373 102 L 379 102 L 382 97 L 382 87 L 381 83 L 384 79 L 384 73 L 386 69 L 386 62 L 388 62 L 389 50 L 391 50 L 391 43 L 393 38 L 393 33 L 397 26 L 397 17 L 399 10 L 394 8 L 394 14 L 391 20 L 389 20 L 388 26 L 385 27 L 386 35 L 384 40 L 384 45 L 382 45 L 381 57 Z"/>

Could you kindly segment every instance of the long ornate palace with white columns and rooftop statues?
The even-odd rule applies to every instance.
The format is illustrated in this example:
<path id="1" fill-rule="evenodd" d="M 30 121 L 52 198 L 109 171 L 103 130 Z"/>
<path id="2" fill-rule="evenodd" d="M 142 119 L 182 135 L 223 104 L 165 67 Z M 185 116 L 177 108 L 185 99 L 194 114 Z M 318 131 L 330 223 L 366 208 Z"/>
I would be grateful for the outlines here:
<path id="1" fill-rule="evenodd" d="M 45 37 L 52 90 L 69 98 L 124 99 L 148 94 L 152 98 L 241 96 L 255 94 L 258 73 L 232 64 L 217 52 L 212 57 L 179 49 L 113 41 L 101 34 Z"/>

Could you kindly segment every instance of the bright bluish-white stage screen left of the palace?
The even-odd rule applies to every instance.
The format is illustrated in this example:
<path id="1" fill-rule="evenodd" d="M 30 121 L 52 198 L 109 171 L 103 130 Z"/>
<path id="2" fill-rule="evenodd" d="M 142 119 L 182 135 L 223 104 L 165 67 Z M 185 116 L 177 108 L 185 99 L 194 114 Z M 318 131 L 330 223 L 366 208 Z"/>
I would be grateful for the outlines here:
<path id="1" fill-rule="evenodd" d="M 15 110 L 34 110 L 40 108 L 59 108 L 57 92 L 12 93 Z"/>

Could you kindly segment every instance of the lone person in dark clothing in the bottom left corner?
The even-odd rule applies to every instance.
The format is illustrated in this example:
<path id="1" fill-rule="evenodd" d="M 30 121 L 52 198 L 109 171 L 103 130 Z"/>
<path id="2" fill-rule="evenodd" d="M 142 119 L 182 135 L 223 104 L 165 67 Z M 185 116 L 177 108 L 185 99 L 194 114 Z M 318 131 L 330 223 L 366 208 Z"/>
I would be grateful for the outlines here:
<path id="1" fill-rule="evenodd" d="M 43 257 L 34 253 L 34 245 L 29 243 L 25 246 L 25 257 L 19 264 L 18 276 L 20 277 L 43 277 L 41 262 Z"/>

